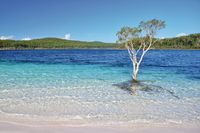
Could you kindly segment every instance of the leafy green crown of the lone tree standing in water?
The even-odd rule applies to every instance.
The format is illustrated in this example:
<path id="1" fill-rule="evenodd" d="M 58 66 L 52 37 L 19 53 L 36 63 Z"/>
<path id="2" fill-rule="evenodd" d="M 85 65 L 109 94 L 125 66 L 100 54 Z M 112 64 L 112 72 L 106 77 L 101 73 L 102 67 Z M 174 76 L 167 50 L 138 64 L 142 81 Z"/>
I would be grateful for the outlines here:
<path id="1" fill-rule="evenodd" d="M 154 35 L 165 27 L 165 21 L 152 19 L 141 21 L 138 27 L 122 27 L 116 36 L 117 43 L 125 44 L 128 49 L 149 49 L 153 44 Z"/>

